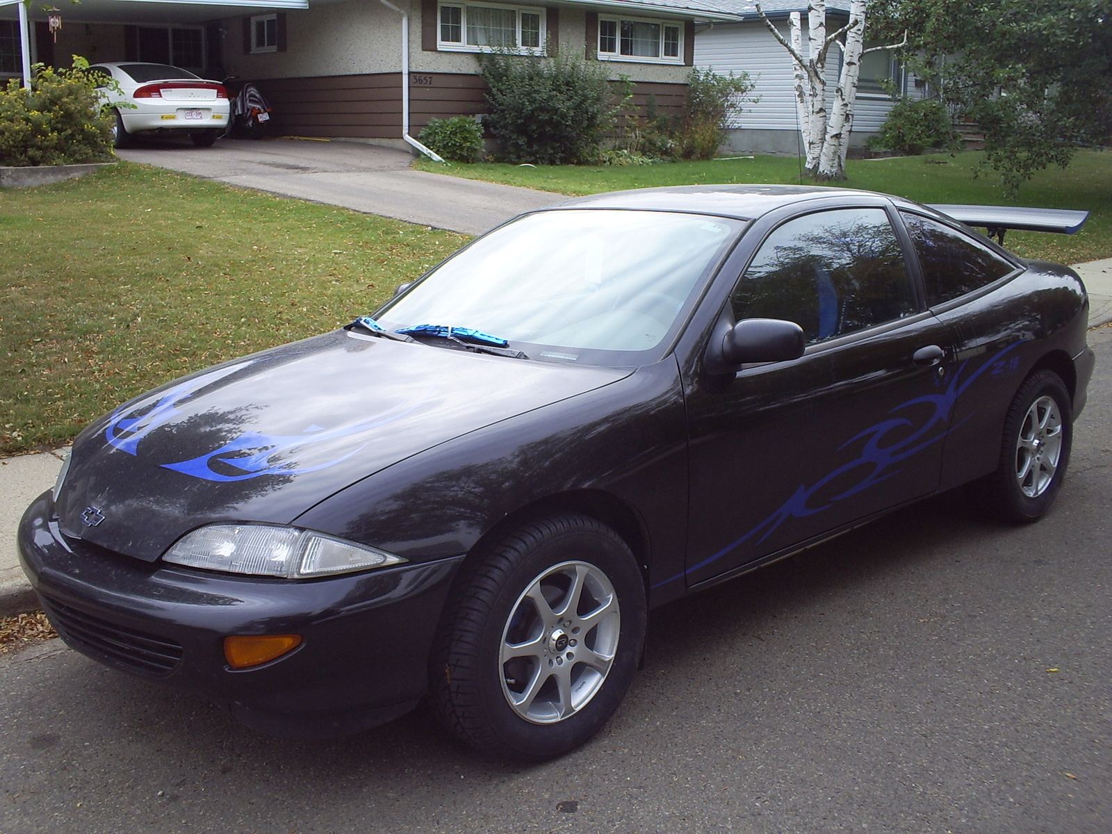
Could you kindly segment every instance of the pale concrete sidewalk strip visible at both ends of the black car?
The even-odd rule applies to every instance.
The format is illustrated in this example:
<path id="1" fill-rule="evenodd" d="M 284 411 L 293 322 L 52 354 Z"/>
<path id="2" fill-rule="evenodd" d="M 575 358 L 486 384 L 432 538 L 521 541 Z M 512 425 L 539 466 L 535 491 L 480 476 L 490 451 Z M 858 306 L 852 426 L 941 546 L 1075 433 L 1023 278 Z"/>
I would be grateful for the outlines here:
<path id="1" fill-rule="evenodd" d="M 1112 321 L 1112 258 L 1073 267 L 1089 288 L 1089 326 Z M 16 528 L 27 506 L 50 489 L 68 448 L 0 458 L 0 617 L 34 610 L 34 592 L 16 553 Z"/>

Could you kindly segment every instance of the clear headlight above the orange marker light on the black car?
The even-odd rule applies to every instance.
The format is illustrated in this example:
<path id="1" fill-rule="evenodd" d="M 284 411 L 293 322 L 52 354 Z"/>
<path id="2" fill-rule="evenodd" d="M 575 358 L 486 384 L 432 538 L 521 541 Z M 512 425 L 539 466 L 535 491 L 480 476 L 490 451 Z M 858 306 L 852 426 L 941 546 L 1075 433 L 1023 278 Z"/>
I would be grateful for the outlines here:
<path id="1" fill-rule="evenodd" d="M 162 560 L 207 570 L 302 579 L 397 565 L 406 559 L 298 527 L 214 524 L 179 538 Z"/>

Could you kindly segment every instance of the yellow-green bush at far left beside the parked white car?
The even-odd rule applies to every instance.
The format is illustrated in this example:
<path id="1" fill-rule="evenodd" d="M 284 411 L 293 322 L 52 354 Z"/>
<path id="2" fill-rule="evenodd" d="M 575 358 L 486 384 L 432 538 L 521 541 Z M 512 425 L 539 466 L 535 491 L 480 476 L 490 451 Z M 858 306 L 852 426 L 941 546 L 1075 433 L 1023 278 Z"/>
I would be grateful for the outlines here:
<path id="1" fill-rule="evenodd" d="M 0 165 L 75 165 L 108 162 L 115 117 L 86 71 L 89 62 L 73 56 L 73 68 L 36 64 L 31 89 L 18 80 L 0 89 Z"/>

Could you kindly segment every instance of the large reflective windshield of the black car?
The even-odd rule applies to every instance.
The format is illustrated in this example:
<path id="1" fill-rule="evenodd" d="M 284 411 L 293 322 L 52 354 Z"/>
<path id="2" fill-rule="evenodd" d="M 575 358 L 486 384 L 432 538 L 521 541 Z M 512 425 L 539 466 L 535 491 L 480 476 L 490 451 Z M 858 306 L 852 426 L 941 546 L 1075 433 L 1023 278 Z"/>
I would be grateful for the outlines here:
<path id="1" fill-rule="evenodd" d="M 376 318 L 390 329 L 474 328 L 534 358 L 653 361 L 743 226 L 665 211 L 527 215 L 463 249 Z"/>

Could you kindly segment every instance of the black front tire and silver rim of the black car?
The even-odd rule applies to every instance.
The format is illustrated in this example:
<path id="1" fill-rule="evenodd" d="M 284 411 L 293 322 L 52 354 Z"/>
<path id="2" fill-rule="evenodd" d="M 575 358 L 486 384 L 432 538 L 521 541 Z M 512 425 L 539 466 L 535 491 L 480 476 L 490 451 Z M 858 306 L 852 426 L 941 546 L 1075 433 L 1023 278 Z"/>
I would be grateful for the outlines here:
<path id="1" fill-rule="evenodd" d="M 457 578 L 430 655 L 434 706 L 479 749 L 524 761 L 559 756 L 622 702 L 646 616 L 641 570 L 614 530 L 573 514 L 526 524 Z"/>

